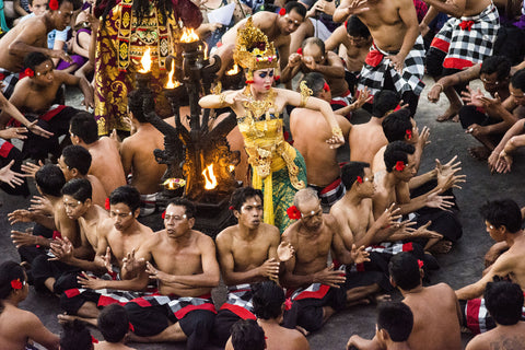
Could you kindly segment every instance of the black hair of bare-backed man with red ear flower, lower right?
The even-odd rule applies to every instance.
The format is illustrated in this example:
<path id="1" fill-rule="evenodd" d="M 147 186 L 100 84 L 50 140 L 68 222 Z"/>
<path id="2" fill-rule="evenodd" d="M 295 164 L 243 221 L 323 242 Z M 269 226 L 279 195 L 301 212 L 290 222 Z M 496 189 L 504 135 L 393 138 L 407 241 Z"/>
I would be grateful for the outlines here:
<path id="1" fill-rule="evenodd" d="M 388 271 L 394 282 L 405 291 L 421 283 L 418 259 L 408 252 L 394 255 L 388 264 Z"/>

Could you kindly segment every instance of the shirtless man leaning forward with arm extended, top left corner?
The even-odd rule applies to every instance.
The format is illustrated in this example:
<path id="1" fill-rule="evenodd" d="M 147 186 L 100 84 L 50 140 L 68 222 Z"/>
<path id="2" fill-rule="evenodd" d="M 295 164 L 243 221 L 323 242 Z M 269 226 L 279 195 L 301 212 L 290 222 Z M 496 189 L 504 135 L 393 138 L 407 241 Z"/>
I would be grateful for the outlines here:
<path id="1" fill-rule="evenodd" d="M 14 85 L 19 81 L 24 57 L 33 51 L 42 52 L 51 58 L 61 58 L 72 62 L 63 50 L 47 48 L 47 33 L 52 30 L 63 31 L 71 23 L 73 3 L 71 0 L 58 0 L 59 8 L 46 11 L 44 15 L 34 16 L 9 31 L 0 39 L 0 74 L 4 86 L 2 92 L 11 97 Z"/>

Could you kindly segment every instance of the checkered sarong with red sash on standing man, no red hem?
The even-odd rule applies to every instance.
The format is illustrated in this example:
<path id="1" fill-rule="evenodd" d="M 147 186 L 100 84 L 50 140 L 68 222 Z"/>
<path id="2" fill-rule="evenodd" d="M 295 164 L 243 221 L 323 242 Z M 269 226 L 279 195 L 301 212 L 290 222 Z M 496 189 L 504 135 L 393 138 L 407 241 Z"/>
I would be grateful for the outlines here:
<path id="1" fill-rule="evenodd" d="M 396 54 L 383 51 L 373 44 L 361 69 L 358 89 L 369 88 L 371 94 L 375 95 L 383 90 L 385 73 L 389 72 L 394 86 L 399 94 L 410 90 L 416 95 L 421 94 L 424 88 L 422 81 L 424 74 L 423 38 L 420 35 L 416 39 L 412 49 L 405 58 L 401 74 L 394 67 L 390 67 L 390 60 L 386 58 L 386 56 Z"/>

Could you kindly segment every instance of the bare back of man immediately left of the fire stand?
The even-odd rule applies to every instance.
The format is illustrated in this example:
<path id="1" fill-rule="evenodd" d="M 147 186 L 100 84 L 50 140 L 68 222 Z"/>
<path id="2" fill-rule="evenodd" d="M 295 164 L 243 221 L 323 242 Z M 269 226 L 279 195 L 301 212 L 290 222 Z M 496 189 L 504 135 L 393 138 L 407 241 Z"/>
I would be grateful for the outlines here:
<path id="1" fill-rule="evenodd" d="M 160 189 L 165 164 L 155 161 L 153 151 L 164 149 L 164 136 L 155 127 L 144 124 L 137 133 L 122 141 L 120 156 L 125 174 L 131 173 L 131 185 L 141 195 L 155 194 Z"/>

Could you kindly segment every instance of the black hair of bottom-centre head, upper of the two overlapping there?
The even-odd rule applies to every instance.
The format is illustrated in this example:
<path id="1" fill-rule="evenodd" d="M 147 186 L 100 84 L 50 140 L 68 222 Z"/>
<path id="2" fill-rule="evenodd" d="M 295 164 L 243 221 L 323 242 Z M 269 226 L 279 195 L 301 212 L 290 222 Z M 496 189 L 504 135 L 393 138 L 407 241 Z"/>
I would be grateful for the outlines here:
<path id="1" fill-rule="evenodd" d="M 281 316 L 284 291 L 273 281 L 265 281 L 252 287 L 254 291 L 254 314 L 257 318 L 271 319 Z"/>

